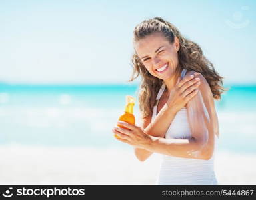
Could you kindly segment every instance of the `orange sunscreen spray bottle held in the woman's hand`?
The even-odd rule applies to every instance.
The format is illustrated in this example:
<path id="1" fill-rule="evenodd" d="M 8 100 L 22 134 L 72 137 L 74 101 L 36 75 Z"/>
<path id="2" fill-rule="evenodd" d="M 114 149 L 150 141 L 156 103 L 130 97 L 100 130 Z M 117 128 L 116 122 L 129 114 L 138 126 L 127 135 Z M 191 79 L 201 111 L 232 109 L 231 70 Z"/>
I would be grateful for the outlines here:
<path id="1" fill-rule="evenodd" d="M 125 106 L 125 113 L 119 117 L 119 121 L 125 121 L 132 125 L 135 125 L 135 117 L 133 115 L 133 106 L 135 104 L 135 99 L 129 95 L 126 96 L 126 106 Z M 123 129 L 127 129 L 121 125 L 118 125 Z M 116 134 L 115 137 L 119 138 Z"/>

